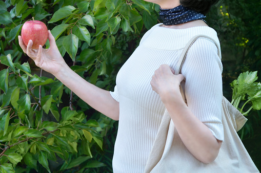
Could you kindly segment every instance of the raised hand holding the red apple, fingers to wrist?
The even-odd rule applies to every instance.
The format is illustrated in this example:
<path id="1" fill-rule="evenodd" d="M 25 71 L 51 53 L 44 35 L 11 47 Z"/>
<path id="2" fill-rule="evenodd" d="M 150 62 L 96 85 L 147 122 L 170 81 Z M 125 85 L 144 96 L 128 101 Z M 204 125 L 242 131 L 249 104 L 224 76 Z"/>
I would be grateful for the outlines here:
<path id="1" fill-rule="evenodd" d="M 19 45 L 23 51 L 34 60 L 35 65 L 55 76 L 55 74 L 58 74 L 60 69 L 67 66 L 67 64 L 59 52 L 55 43 L 55 38 L 51 34 L 50 30 L 48 30 L 48 39 L 50 42 L 49 49 L 43 49 L 41 45 L 39 46 L 39 49 L 32 49 L 32 40 L 30 40 L 26 46 L 22 37 L 20 35 L 18 36 Z"/>

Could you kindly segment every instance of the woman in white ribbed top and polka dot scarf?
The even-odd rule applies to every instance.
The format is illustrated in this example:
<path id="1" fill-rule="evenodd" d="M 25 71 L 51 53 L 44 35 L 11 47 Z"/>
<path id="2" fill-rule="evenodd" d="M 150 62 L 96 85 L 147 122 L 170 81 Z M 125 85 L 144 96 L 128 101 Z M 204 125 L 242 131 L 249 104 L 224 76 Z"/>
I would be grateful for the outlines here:
<path id="1" fill-rule="evenodd" d="M 190 153 L 199 161 L 210 163 L 217 157 L 224 138 L 222 63 L 216 46 L 208 39 L 197 39 L 188 52 L 182 75 L 174 76 L 173 69 L 194 35 L 205 34 L 218 42 L 216 32 L 206 25 L 202 14 L 216 1 L 149 1 L 162 8 L 164 24 L 157 24 L 144 35 L 119 70 L 114 92 L 99 89 L 74 73 L 50 31 L 47 50 L 42 46 L 32 50 L 31 40 L 26 47 L 21 36 L 19 45 L 36 66 L 53 74 L 97 111 L 119 120 L 114 172 L 144 171 L 165 107 Z M 179 91 L 184 77 L 187 104 Z"/>

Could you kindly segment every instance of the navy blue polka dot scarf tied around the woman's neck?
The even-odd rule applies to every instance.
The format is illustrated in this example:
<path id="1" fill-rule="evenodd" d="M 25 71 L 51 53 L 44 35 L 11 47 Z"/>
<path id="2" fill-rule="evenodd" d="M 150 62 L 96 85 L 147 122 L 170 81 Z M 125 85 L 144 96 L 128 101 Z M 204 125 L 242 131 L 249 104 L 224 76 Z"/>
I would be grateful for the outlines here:
<path id="1" fill-rule="evenodd" d="M 199 13 L 195 10 L 191 10 L 187 7 L 183 7 L 182 5 L 177 6 L 173 9 L 160 8 L 159 16 L 163 19 L 164 25 L 184 24 L 188 21 L 198 19 L 205 21 L 204 18 L 206 18 L 204 14 Z"/>

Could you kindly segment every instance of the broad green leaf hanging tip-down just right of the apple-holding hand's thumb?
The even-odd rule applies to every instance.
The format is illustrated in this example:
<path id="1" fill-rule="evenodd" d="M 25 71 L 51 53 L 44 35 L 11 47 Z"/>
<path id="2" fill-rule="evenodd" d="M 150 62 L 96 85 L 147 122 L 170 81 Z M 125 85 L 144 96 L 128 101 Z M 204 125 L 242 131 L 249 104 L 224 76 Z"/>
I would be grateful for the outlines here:
<path id="1" fill-rule="evenodd" d="M 71 59 L 75 61 L 75 56 L 78 49 L 78 37 L 74 34 L 70 34 L 66 36 L 66 38 L 63 41 L 63 46 L 70 55 Z"/>

